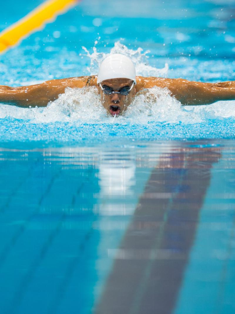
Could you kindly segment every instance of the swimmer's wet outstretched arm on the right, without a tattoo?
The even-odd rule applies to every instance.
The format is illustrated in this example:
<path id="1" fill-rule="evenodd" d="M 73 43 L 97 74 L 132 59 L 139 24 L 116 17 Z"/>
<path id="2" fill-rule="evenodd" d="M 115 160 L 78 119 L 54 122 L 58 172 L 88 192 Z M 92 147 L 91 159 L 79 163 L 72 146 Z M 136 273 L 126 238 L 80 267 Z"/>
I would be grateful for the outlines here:
<path id="1" fill-rule="evenodd" d="M 167 87 L 182 105 L 208 105 L 219 100 L 235 100 L 235 81 L 191 82 L 181 78 L 141 78 L 143 87 Z"/>

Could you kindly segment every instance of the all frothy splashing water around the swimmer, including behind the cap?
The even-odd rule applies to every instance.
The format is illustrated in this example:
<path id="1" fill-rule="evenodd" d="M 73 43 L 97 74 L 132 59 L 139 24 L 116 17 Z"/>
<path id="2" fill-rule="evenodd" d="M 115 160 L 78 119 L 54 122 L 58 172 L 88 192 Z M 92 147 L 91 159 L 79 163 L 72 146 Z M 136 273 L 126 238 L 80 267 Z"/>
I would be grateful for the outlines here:
<path id="1" fill-rule="evenodd" d="M 90 73 L 96 73 L 102 60 L 112 53 L 132 58 L 137 73 L 143 76 L 166 76 L 163 69 L 148 65 L 149 51 L 128 49 L 119 41 L 110 53 L 93 52 L 84 47 L 90 58 Z M 235 101 L 220 101 L 207 106 L 182 106 L 167 88 L 153 87 L 140 91 L 122 116 L 110 116 L 103 108 L 96 87 L 66 88 L 65 93 L 44 108 L 19 108 L 1 105 L 2 141 L 68 142 L 107 141 L 116 136 L 128 139 L 234 137 Z M 24 127 L 23 127 L 24 124 Z"/>

